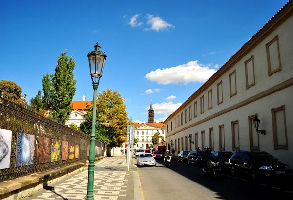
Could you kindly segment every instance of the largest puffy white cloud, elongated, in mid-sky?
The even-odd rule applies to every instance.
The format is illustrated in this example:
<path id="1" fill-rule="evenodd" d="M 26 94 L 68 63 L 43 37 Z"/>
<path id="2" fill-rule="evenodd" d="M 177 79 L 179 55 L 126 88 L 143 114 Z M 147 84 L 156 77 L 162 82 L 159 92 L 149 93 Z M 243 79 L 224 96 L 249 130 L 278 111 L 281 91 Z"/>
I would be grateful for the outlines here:
<path id="1" fill-rule="evenodd" d="M 157 69 L 147 73 L 145 78 L 149 81 L 159 84 L 187 84 L 189 82 L 206 82 L 215 72 L 215 69 L 209 68 L 211 64 L 199 64 L 198 60 L 190 61 L 187 64 L 178 65 L 166 69 Z"/>

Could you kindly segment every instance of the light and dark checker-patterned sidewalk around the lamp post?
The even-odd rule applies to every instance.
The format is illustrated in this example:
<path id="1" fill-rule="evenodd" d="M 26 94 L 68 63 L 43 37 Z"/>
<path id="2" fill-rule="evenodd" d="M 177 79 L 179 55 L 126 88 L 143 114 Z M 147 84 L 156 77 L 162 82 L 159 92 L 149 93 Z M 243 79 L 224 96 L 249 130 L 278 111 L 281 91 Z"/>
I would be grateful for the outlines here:
<path id="1" fill-rule="evenodd" d="M 95 200 L 133 200 L 133 160 L 130 172 L 125 156 L 107 157 L 95 165 L 94 199 Z M 39 190 L 23 200 L 82 200 L 87 194 L 88 171 Z"/>

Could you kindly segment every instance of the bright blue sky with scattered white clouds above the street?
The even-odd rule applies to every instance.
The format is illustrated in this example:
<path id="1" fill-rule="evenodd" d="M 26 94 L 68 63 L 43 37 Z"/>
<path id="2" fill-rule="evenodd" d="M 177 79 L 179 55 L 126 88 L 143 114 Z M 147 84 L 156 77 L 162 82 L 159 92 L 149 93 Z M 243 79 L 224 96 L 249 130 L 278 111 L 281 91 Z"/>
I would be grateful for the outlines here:
<path id="1" fill-rule="evenodd" d="M 42 91 L 63 50 L 76 61 L 73 100 L 93 97 L 87 53 L 108 56 L 98 91 L 128 117 L 163 121 L 285 5 L 286 0 L 13 0 L 0 2 L 0 80 Z"/>

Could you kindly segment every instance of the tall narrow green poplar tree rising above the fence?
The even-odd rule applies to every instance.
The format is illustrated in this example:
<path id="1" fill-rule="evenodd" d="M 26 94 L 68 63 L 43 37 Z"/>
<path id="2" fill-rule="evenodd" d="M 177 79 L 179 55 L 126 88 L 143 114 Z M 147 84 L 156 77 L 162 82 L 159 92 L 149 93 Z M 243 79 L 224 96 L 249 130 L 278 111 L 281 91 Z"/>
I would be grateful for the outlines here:
<path id="1" fill-rule="evenodd" d="M 65 123 L 70 118 L 71 101 L 75 94 L 74 67 L 72 56 L 63 51 L 57 59 L 55 74 L 46 74 L 42 79 L 43 105 L 49 111 L 49 118 Z"/>

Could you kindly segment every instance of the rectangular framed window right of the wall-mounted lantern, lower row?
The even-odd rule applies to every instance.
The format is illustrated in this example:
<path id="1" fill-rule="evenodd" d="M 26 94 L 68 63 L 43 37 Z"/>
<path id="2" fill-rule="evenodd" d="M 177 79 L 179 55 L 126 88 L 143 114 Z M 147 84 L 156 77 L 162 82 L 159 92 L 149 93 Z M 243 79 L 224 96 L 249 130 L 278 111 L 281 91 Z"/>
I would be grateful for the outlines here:
<path id="1" fill-rule="evenodd" d="M 285 105 L 272 109 L 274 149 L 288 149 Z"/>

